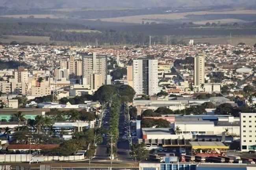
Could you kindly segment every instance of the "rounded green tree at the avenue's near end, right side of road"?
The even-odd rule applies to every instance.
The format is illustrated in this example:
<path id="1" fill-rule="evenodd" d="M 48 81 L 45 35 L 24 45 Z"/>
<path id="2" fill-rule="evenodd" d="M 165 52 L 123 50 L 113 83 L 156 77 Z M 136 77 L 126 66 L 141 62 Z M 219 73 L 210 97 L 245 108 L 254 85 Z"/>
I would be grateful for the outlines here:
<path id="1" fill-rule="evenodd" d="M 130 155 L 133 159 L 137 159 L 139 162 L 148 158 L 149 151 L 146 149 L 144 143 L 132 145 L 132 151 Z"/>

